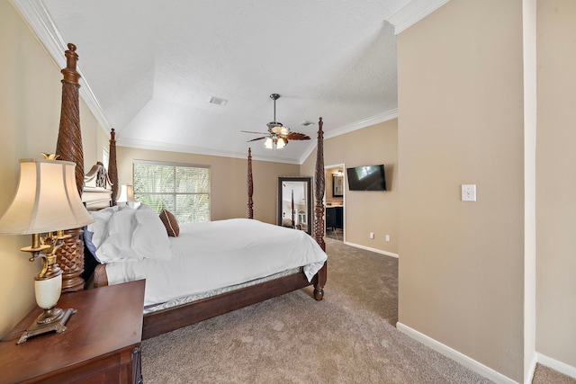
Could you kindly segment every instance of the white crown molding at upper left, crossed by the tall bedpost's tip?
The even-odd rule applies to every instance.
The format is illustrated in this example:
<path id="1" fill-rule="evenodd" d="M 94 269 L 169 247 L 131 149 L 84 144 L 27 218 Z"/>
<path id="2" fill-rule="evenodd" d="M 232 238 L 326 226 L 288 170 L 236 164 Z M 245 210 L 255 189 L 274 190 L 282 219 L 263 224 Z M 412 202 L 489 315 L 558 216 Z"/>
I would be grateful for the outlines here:
<path id="1" fill-rule="evenodd" d="M 28 23 L 36 38 L 44 46 L 54 60 L 58 68 L 66 67 L 66 57 L 64 52 L 68 49 L 67 43 L 62 39 L 62 35 L 56 24 L 52 21 L 46 7 L 41 0 L 10 0 L 14 8 L 22 15 L 25 22 Z M 102 107 L 96 100 L 90 85 L 88 85 L 85 76 L 82 74 L 81 66 L 78 64 L 76 72 L 80 74 L 80 97 L 87 105 L 88 109 L 94 114 L 96 120 L 102 126 L 102 129 L 110 129 L 112 126 L 104 117 Z"/>

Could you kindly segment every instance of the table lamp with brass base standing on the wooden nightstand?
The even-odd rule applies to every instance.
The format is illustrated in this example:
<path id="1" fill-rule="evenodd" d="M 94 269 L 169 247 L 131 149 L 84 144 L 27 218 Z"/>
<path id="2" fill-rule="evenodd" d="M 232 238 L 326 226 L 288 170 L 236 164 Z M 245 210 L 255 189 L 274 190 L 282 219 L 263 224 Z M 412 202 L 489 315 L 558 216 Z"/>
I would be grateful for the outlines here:
<path id="1" fill-rule="evenodd" d="M 53 157 L 53 156 L 52 156 Z M 80 200 L 76 187 L 76 165 L 57 160 L 20 160 L 20 182 L 14 201 L 0 219 L 0 234 L 32 235 L 30 261 L 40 259 L 42 270 L 34 277 L 36 303 L 44 312 L 24 332 L 17 344 L 28 337 L 66 330 L 75 309 L 56 308 L 62 287 L 62 270 L 56 250 L 65 229 L 81 228 L 94 220 Z M 40 237 L 40 234 L 44 234 Z"/>

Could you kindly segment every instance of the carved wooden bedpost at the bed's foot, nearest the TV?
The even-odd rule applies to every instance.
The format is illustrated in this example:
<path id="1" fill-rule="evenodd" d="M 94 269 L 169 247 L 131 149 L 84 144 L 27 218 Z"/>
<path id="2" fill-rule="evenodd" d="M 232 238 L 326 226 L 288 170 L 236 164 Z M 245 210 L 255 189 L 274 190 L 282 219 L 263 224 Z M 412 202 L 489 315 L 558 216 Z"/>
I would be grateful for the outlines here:
<path id="1" fill-rule="evenodd" d="M 314 209 L 314 238 L 322 250 L 326 252 L 324 243 L 324 191 L 326 180 L 324 177 L 324 131 L 322 131 L 322 118 L 318 122 L 318 145 L 316 147 L 316 174 L 314 176 L 314 198 L 316 206 Z M 314 277 L 314 299 L 321 300 L 324 297 L 324 285 L 327 279 L 327 263 Z"/>

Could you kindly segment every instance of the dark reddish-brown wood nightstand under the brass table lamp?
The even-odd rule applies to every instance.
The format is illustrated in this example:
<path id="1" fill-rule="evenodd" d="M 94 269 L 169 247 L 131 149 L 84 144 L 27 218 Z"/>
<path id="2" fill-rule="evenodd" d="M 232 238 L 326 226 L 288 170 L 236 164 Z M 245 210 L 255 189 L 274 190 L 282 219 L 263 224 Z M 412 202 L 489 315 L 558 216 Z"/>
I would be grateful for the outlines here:
<path id="1" fill-rule="evenodd" d="M 63 294 L 58 308 L 77 313 L 61 334 L 16 342 L 35 308 L 0 341 L 0 382 L 138 383 L 145 281 Z"/>

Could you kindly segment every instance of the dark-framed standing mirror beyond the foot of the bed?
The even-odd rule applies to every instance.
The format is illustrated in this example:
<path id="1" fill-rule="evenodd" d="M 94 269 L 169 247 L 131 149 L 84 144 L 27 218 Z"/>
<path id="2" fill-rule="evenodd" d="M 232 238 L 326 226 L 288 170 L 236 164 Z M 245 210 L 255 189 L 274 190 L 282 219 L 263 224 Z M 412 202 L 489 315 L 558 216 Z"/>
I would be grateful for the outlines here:
<path id="1" fill-rule="evenodd" d="M 279 226 L 312 233 L 311 177 L 278 177 Z"/>

